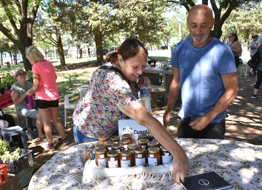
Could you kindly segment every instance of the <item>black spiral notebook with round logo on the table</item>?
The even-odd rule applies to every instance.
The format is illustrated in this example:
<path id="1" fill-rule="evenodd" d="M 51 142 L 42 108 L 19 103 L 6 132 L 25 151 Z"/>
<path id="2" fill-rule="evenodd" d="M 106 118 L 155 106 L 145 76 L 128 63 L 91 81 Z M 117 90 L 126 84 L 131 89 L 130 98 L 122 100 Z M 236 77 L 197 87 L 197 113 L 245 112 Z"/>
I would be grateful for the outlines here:
<path id="1" fill-rule="evenodd" d="M 222 190 L 231 187 L 227 181 L 214 171 L 185 177 L 185 181 L 181 181 L 181 185 L 185 190 Z"/>

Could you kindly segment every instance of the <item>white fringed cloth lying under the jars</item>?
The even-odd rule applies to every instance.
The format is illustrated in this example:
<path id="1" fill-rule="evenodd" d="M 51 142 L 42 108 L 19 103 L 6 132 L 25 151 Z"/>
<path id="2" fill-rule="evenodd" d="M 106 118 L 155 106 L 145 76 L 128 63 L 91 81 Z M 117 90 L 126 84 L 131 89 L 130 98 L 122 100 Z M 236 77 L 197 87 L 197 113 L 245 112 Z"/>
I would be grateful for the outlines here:
<path id="1" fill-rule="evenodd" d="M 101 168 L 96 166 L 95 160 L 87 160 L 84 169 L 84 179 L 92 181 L 94 179 L 132 179 L 142 180 L 172 180 L 173 162 L 163 166 L 133 166 L 126 168 Z"/>

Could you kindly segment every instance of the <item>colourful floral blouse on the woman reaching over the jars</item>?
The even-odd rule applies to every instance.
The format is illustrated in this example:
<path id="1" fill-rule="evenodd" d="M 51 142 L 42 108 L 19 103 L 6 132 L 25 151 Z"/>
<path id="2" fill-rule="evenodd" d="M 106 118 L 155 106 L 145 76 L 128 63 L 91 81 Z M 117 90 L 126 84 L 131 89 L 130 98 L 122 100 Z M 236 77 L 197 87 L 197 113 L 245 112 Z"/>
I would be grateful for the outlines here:
<path id="1" fill-rule="evenodd" d="M 105 65 L 116 67 L 114 63 Z M 118 120 L 126 117 L 118 108 L 138 103 L 135 85 L 136 81 L 129 85 L 116 71 L 97 69 L 77 102 L 74 125 L 89 138 L 111 136 L 118 128 Z"/>

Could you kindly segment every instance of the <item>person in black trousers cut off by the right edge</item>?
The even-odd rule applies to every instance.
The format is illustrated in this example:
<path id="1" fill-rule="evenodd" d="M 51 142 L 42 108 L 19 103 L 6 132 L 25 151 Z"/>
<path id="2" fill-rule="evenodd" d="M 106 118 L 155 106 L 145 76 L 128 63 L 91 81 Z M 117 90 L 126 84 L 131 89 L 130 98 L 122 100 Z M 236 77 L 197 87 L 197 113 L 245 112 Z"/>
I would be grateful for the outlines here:
<path id="1" fill-rule="evenodd" d="M 254 94 L 251 96 L 251 98 L 256 98 L 258 94 L 258 89 L 262 83 L 262 34 L 259 35 L 258 40 L 258 50 L 260 50 L 260 63 L 258 64 L 256 70 L 257 70 L 257 81 L 255 83 L 255 88 L 254 88 Z"/>

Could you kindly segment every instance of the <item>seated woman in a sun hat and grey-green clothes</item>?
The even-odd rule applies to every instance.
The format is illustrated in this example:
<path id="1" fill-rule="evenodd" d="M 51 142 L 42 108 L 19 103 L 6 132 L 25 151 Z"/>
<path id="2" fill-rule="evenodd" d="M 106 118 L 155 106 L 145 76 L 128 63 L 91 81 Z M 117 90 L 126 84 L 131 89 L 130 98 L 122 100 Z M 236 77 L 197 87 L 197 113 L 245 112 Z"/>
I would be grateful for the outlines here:
<path id="1" fill-rule="evenodd" d="M 26 81 L 26 75 L 27 75 L 27 71 L 24 71 L 21 68 L 18 68 L 14 71 L 13 78 L 17 80 L 17 82 L 15 82 L 10 89 L 11 97 L 14 102 L 14 108 L 17 114 L 36 119 L 36 127 L 38 129 L 38 139 L 47 140 L 47 138 L 43 135 L 42 132 L 43 120 L 38 110 L 36 109 L 28 110 L 25 104 L 25 96 L 28 95 L 27 91 L 31 89 L 33 86 L 31 82 Z M 55 133 L 57 132 L 52 131 L 52 134 Z"/>

